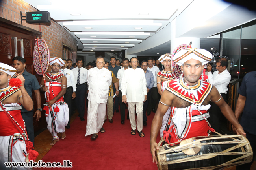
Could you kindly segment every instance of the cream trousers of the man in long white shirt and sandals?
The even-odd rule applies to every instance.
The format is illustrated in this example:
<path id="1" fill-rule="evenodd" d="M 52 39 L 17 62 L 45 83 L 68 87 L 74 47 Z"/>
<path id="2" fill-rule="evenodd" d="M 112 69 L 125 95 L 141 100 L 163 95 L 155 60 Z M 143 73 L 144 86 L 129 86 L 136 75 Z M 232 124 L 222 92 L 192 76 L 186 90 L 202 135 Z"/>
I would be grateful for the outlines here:
<path id="1" fill-rule="evenodd" d="M 137 113 L 137 130 L 142 131 L 142 125 L 143 125 L 143 102 L 127 102 L 128 103 L 128 109 L 129 109 L 129 117 L 132 129 L 136 129 L 136 120 L 135 120 L 135 106 L 136 106 L 136 113 Z"/>

